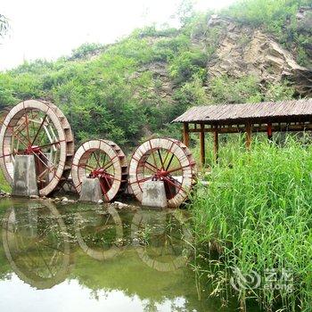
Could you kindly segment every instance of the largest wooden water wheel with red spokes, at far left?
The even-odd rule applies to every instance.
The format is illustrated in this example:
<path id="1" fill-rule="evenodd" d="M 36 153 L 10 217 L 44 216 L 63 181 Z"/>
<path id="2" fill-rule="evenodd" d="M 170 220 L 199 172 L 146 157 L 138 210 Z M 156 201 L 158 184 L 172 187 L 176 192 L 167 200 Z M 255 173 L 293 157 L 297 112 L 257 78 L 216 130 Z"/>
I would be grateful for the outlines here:
<path id="1" fill-rule="evenodd" d="M 39 194 L 57 191 L 70 175 L 75 151 L 70 124 L 53 103 L 28 100 L 14 106 L 0 131 L 0 167 L 12 184 L 15 155 L 34 155 Z"/>

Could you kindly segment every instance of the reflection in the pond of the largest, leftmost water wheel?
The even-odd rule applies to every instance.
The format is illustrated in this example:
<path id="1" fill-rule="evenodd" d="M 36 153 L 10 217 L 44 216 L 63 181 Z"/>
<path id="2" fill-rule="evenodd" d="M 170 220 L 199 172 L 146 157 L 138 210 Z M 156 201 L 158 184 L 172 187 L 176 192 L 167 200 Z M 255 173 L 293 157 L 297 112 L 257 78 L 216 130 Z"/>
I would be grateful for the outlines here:
<path id="1" fill-rule="evenodd" d="M 70 269 L 70 242 L 51 203 L 9 209 L 3 222 L 4 252 L 22 281 L 37 289 L 61 283 Z"/>

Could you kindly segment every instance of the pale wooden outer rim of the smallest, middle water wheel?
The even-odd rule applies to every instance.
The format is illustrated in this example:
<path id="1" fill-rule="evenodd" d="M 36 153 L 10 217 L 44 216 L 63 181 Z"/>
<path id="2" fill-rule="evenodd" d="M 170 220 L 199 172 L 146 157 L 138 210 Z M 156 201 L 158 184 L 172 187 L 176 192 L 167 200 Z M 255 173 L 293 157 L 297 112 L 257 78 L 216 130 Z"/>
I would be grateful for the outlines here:
<path id="1" fill-rule="evenodd" d="M 105 201 L 111 201 L 127 183 L 127 161 L 124 152 L 119 145 L 108 140 L 89 140 L 82 144 L 75 153 L 72 162 L 71 177 L 78 193 L 81 192 L 83 180 L 87 177 L 86 166 L 93 152 L 100 151 L 105 153 L 110 159 L 113 168 L 112 185 L 106 192 L 103 191 Z M 103 166 L 104 168 L 106 166 Z"/>

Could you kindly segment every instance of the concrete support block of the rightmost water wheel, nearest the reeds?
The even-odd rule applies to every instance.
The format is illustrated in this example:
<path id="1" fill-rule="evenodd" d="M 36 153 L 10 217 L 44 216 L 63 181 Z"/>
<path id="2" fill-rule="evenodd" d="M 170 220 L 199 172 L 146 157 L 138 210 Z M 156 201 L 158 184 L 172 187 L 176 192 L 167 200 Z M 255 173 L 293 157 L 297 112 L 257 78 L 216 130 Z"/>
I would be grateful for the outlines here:
<path id="1" fill-rule="evenodd" d="M 154 208 L 168 207 L 165 185 L 163 181 L 144 182 L 142 205 Z"/>

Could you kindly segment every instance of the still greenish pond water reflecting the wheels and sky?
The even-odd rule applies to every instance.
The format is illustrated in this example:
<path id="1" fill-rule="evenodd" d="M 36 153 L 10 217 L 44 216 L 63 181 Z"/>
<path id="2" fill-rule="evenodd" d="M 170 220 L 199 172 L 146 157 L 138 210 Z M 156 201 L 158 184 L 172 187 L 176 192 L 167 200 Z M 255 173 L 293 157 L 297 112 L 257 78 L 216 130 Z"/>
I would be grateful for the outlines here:
<path id="1" fill-rule="evenodd" d="M 201 295 L 181 210 L 0 200 L 0 311 L 234 311 Z"/>

